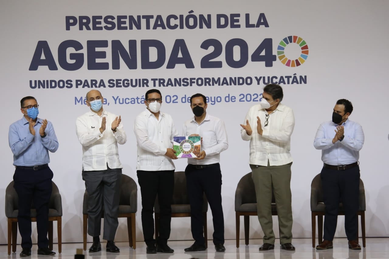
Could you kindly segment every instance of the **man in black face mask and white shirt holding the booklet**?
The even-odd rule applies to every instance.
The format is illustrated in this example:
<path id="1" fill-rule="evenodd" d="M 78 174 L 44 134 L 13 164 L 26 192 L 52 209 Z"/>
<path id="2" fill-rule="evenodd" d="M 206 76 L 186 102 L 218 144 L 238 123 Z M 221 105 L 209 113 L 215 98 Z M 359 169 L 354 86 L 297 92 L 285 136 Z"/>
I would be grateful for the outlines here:
<path id="1" fill-rule="evenodd" d="M 205 250 L 203 235 L 203 193 L 207 196 L 214 223 L 213 240 L 217 252 L 224 252 L 224 217 L 221 205 L 220 153 L 228 148 L 224 122 L 207 113 L 207 99 L 203 94 L 191 96 L 194 117 L 184 124 L 184 136 L 202 137 L 201 152 L 197 158 L 188 158 L 185 169 L 187 193 L 191 206 L 191 230 L 195 243 L 185 252 Z"/>

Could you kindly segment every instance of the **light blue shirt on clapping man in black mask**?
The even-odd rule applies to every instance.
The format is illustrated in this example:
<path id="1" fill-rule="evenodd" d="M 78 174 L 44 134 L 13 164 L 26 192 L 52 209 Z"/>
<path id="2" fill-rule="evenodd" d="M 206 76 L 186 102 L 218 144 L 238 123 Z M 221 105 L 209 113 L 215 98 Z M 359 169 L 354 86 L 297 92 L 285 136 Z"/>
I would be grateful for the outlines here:
<path id="1" fill-rule="evenodd" d="M 362 149 L 364 134 L 362 126 L 354 121 L 343 122 L 344 138 L 342 141 L 332 143 L 335 137 L 335 129 L 338 124 L 332 121 L 323 122 L 317 129 L 314 147 L 321 150 L 321 160 L 327 165 L 349 165 L 359 159 L 359 151 Z"/>

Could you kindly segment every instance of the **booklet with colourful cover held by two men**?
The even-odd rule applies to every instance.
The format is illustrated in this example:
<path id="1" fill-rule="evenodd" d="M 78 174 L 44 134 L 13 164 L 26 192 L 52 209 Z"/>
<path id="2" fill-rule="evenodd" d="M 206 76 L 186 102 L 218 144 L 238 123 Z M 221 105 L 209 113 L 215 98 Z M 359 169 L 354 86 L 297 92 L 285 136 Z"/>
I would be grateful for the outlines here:
<path id="1" fill-rule="evenodd" d="M 173 149 L 177 158 L 196 158 L 201 151 L 200 136 L 174 137 Z"/>

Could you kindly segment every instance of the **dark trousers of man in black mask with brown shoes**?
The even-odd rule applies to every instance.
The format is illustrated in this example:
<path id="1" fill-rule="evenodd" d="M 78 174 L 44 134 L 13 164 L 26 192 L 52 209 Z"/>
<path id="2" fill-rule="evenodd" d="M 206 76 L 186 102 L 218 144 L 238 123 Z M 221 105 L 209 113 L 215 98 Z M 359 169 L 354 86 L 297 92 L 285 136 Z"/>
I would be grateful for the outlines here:
<path id="1" fill-rule="evenodd" d="M 348 240 L 356 240 L 358 231 L 359 208 L 359 166 L 338 171 L 328 168 L 321 170 L 323 199 L 326 205 L 324 216 L 325 240 L 332 241 L 335 236 L 338 220 L 339 203 L 342 202 L 345 211 L 345 232 Z"/>

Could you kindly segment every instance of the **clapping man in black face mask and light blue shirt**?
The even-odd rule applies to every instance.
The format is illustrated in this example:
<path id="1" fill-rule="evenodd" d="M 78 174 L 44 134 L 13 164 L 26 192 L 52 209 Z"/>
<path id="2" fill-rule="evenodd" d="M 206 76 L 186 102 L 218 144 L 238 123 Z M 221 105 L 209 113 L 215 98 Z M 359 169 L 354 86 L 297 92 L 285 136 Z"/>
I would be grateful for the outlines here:
<path id="1" fill-rule="evenodd" d="M 316 249 L 333 248 L 340 200 L 345 209 L 345 231 L 349 248 L 361 249 L 357 240 L 360 177 L 358 159 L 364 134 L 361 125 L 348 119 L 351 112 L 352 103 L 349 100 L 338 100 L 332 121 L 323 122 L 315 136 L 314 147 L 322 151 L 321 159 L 324 163 L 321 180 L 326 205 L 324 240 Z"/>

